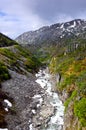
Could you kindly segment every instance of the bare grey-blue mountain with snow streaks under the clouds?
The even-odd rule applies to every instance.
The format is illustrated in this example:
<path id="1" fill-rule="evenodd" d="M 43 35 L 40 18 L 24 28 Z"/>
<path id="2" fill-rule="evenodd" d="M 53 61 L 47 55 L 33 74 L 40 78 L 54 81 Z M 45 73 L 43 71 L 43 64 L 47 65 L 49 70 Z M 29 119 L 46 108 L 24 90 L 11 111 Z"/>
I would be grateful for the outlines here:
<path id="1" fill-rule="evenodd" d="M 45 42 L 46 44 L 57 43 L 60 39 L 77 36 L 84 36 L 86 38 L 86 21 L 76 19 L 66 23 L 45 26 L 36 31 L 25 32 L 15 40 L 20 44 L 37 45 Z"/>

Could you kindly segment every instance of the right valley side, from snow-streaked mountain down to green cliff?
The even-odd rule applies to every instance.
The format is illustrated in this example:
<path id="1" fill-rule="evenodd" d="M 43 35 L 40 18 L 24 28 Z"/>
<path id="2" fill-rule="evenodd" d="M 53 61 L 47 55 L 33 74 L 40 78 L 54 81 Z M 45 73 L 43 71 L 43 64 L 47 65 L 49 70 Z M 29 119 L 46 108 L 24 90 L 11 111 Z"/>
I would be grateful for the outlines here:
<path id="1" fill-rule="evenodd" d="M 65 105 L 64 130 L 86 129 L 86 21 L 76 19 L 16 38 L 49 66 Z M 34 51 L 33 51 L 34 52 Z"/>

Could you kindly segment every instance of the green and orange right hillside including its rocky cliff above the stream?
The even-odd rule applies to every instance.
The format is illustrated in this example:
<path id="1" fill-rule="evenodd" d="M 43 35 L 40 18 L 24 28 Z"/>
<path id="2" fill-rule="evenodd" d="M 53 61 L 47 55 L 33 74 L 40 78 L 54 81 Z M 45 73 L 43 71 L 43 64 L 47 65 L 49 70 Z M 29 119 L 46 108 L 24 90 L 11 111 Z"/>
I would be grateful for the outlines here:
<path id="1" fill-rule="evenodd" d="M 65 130 L 86 129 L 86 40 L 64 41 L 49 64 L 65 105 Z M 58 78 L 57 78 L 58 79 Z M 84 128 L 85 127 L 85 128 Z"/>

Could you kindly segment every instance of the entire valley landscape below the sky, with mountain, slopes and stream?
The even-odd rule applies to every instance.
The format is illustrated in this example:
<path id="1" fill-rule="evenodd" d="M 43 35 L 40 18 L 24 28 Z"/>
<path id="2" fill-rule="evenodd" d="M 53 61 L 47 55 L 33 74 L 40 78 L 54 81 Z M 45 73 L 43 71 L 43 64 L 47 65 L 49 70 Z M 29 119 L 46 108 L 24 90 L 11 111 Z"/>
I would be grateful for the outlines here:
<path id="1" fill-rule="evenodd" d="M 86 130 L 86 21 L 15 40 L 0 34 L 0 128 Z"/>

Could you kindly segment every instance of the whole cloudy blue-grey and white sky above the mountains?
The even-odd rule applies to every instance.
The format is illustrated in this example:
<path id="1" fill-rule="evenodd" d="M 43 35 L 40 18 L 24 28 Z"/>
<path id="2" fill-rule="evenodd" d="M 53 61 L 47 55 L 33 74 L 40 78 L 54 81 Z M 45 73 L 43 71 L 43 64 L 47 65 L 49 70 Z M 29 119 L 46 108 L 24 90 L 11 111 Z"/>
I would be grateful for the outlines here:
<path id="1" fill-rule="evenodd" d="M 0 32 L 23 32 L 72 19 L 86 19 L 86 0 L 0 0 Z"/>

